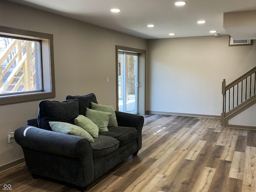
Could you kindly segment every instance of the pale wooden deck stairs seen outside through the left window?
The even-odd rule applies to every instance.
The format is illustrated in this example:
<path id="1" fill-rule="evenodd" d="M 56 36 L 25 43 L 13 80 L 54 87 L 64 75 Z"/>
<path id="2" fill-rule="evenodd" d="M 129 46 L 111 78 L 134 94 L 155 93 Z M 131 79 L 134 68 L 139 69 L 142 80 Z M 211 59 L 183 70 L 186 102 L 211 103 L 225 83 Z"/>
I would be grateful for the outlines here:
<path id="1" fill-rule="evenodd" d="M 34 44 L 13 39 L 0 52 L 0 95 L 36 90 Z"/>

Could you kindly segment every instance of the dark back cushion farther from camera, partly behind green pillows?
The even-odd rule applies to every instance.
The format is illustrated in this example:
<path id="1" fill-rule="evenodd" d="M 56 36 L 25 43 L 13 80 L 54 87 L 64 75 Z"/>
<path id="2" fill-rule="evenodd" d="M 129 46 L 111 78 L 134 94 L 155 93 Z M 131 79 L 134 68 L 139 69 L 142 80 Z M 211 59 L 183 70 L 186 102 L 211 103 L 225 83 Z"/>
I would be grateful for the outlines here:
<path id="1" fill-rule="evenodd" d="M 86 108 L 91 108 L 91 102 L 98 103 L 96 96 L 91 93 L 83 96 L 66 96 L 66 100 L 78 99 L 79 101 L 79 115 L 85 116 Z"/>

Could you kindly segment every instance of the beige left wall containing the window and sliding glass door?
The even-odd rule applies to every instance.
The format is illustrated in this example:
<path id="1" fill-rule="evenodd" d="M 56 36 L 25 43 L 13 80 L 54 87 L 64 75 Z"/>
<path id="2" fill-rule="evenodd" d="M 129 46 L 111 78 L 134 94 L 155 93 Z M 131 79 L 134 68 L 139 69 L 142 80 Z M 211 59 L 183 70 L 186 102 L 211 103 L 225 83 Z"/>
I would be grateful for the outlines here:
<path id="1" fill-rule="evenodd" d="M 146 40 L 40 10 L 0 1 L 0 25 L 54 35 L 56 98 L 94 92 L 116 107 L 116 45 L 146 50 Z M 109 82 L 106 78 L 109 77 Z M 36 117 L 38 102 L 0 106 L 0 166 L 23 157 L 7 135 Z"/>

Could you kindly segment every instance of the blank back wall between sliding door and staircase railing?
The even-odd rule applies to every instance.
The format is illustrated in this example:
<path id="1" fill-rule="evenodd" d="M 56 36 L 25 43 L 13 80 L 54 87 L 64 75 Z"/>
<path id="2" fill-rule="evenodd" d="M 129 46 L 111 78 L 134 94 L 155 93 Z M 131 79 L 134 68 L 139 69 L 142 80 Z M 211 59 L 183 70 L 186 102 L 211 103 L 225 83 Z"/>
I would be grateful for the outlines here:
<path id="1" fill-rule="evenodd" d="M 256 45 L 229 36 L 148 40 L 147 111 L 220 116 L 221 85 L 256 65 Z"/>

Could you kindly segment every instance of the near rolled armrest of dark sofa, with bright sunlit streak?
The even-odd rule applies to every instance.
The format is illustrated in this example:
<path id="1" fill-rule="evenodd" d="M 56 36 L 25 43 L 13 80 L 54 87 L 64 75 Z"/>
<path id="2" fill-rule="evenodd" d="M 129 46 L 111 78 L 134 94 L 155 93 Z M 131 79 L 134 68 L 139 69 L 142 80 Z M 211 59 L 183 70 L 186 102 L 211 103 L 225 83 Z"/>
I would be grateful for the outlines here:
<path id="1" fill-rule="evenodd" d="M 26 167 L 34 177 L 50 178 L 84 188 L 94 180 L 92 148 L 85 138 L 23 126 L 14 132 Z"/>

